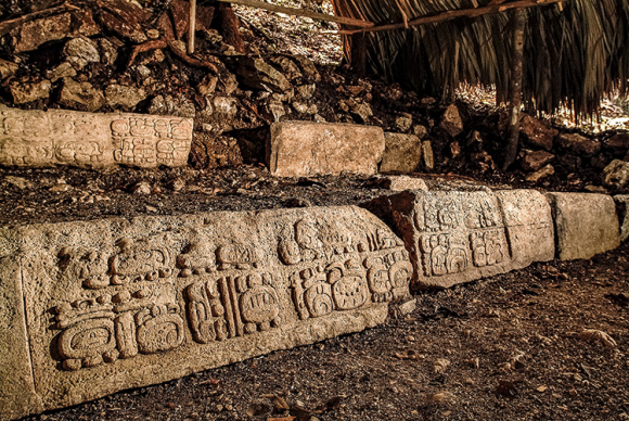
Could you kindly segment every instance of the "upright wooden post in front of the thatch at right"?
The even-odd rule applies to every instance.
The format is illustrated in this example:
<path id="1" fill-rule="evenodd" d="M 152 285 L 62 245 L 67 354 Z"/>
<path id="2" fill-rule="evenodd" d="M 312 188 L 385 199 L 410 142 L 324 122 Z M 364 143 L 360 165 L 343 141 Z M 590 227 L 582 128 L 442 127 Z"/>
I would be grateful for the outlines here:
<path id="1" fill-rule="evenodd" d="M 502 165 L 504 171 L 515 162 L 519 143 L 519 109 L 522 107 L 522 67 L 526 12 L 522 9 L 515 10 L 511 22 L 513 28 L 513 56 L 511 59 L 511 84 L 509 89 L 509 128 L 506 149 L 504 151 L 504 163 Z"/>

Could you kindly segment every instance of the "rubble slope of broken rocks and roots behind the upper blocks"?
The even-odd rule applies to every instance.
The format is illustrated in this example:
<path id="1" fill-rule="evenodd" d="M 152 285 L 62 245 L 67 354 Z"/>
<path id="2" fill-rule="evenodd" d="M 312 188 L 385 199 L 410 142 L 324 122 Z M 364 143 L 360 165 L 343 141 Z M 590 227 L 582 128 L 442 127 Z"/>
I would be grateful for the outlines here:
<path id="1" fill-rule="evenodd" d="M 271 123 L 310 120 L 410 135 L 391 138 L 391 148 L 423 158 L 412 166 L 383 163 L 383 171 L 503 177 L 497 162 L 504 118 L 498 113 L 463 103 L 444 106 L 397 85 L 358 78 L 344 66 L 262 51 L 245 28 L 247 52 L 236 52 L 214 28 L 211 7 L 200 7 L 196 53 L 188 54 L 185 1 L 169 2 L 168 10 L 124 0 L 97 3 L 7 31 L 1 40 L 8 60 L 0 60 L 4 104 L 194 117 L 190 164 L 197 169 L 261 163 Z M 522 126 L 512 180 L 561 190 L 627 189 L 627 133 L 560 131 L 526 115 Z"/>

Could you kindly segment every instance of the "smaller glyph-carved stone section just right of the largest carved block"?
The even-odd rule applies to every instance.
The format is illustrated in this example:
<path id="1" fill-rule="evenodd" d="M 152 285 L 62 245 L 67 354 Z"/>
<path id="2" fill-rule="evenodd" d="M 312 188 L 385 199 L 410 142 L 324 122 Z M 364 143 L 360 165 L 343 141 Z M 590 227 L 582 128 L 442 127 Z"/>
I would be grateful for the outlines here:
<path id="1" fill-rule="evenodd" d="M 407 191 L 365 207 L 405 240 L 416 289 L 449 288 L 554 256 L 551 212 L 534 191 Z"/>

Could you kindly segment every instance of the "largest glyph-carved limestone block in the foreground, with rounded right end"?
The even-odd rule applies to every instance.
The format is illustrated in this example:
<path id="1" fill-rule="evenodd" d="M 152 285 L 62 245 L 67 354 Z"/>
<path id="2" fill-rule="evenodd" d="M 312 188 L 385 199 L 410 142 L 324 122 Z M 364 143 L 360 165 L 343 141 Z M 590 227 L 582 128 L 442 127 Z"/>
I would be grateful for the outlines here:
<path id="1" fill-rule="evenodd" d="M 0 228 L 0 419 L 382 323 L 403 243 L 358 207 Z"/>

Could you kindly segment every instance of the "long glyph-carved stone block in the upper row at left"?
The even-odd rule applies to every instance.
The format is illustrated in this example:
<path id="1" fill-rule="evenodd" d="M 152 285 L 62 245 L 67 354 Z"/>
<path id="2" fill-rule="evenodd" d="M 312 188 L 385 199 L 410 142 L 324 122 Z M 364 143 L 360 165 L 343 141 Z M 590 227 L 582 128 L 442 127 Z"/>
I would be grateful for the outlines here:
<path id="1" fill-rule="evenodd" d="M 0 165 L 184 166 L 192 127 L 181 117 L 0 107 Z"/>

